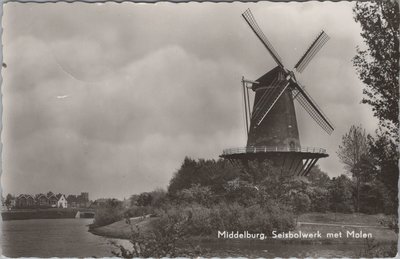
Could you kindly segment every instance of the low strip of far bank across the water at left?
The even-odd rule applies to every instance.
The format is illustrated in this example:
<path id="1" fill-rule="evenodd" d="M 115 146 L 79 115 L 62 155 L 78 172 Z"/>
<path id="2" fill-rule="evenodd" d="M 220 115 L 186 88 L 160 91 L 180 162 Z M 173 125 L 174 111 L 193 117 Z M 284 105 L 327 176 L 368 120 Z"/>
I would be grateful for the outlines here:
<path id="1" fill-rule="evenodd" d="M 78 208 L 21 209 L 2 211 L 3 221 L 24 219 L 93 218 L 94 211 Z"/>

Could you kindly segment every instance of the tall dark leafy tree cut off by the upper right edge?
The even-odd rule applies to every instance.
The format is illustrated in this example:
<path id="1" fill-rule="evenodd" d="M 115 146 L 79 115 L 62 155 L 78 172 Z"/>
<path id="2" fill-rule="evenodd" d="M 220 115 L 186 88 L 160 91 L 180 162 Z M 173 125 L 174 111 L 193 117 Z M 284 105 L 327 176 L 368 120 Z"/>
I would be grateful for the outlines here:
<path id="1" fill-rule="evenodd" d="M 398 139 L 399 4 L 396 0 L 357 2 L 353 13 L 366 45 L 363 50 L 357 47 L 353 59 L 365 84 L 362 103 L 371 105 L 380 125 Z"/>

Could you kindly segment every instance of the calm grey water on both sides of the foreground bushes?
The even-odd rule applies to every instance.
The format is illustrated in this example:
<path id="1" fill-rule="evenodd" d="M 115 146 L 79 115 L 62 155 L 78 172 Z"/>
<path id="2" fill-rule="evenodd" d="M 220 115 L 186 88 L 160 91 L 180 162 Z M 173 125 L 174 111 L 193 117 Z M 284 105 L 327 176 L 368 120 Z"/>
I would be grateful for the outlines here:
<path id="1" fill-rule="evenodd" d="M 111 257 L 110 238 L 89 233 L 92 219 L 32 219 L 2 222 L 2 254 L 8 257 Z M 114 241 L 128 247 L 126 240 Z M 204 256 L 358 257 L 355 244 L 282 244 L 260 240 L 202 242 Z"/>

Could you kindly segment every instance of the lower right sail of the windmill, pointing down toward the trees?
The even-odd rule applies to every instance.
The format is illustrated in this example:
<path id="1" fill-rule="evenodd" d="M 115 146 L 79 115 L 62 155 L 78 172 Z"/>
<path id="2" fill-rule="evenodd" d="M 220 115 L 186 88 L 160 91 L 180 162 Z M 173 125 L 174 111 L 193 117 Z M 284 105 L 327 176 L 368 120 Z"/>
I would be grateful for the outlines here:
<path id="1" fill-rule="evenodd" d="M 318 107 L 317 103 L 311 98 L 310 94 L 303 86 L 296 84 L 293 96 L 322 129 L 324 129 L 329 135 L 332 134 L 334 130 L 333 124 L 328 120 L 326 115 Z"/>

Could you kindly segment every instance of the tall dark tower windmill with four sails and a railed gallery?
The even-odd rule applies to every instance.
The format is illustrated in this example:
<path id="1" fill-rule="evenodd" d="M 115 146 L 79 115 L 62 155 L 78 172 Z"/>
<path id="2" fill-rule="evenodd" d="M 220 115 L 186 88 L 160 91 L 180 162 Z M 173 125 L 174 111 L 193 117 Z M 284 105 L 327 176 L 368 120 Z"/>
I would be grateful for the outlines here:
<path id="1" fill-rule="evenodd" d="M 258 26 L 250 9 L 242 16 L 277 66 L 255 81 L 242 78 L 247 145 L 245 148 L 225 149 L 221 157 L 241 163 L 269 159 L 291 175 L 305 176 L 318 159 L 328 154 L 322 148 L 300 145 L 294 100 L 328 134 L 333 132 L 334 127 L 296 79 L 295 73 L 284 67 L 282 59 Z M 324 31 L 319 33 L 294 69 L 298 73 L 303 72 L 328 40 L 329 36 Z M 252 109 L 250 90 L 255 92 Z"/>

